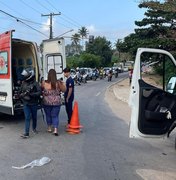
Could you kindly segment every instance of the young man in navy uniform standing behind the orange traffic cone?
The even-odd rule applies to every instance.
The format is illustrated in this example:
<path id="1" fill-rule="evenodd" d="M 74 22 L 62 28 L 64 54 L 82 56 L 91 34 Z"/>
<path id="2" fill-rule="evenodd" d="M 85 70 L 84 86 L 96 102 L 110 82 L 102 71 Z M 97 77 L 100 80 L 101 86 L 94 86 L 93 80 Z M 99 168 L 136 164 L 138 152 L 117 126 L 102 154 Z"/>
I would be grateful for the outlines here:
<path id="1" fill-rule="evenodd" d="M 65 68 L 64 76 L 67 78 L 66 80 L 66 91 L 64 93 L 65 97 L 65 109 L 68 116 L 68 124 L 70 124 L 72 109 L 73 109 L 73 100 L 74 100 L 74 81 L 70 76 L 70 68 Z"/>

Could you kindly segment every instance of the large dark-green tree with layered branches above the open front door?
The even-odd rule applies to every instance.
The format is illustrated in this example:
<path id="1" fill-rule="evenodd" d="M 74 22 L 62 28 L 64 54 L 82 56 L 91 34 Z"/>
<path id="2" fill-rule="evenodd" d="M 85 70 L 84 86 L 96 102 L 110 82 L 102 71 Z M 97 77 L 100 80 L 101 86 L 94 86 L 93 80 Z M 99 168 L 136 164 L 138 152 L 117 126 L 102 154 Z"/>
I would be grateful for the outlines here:
<path id="1" fill-rule="evenodd" d="M 124 38 L 122 43 L 117 43 L 117 49 L 135 54 L 137 48 L 162 48 L 168 51 L 176 49 L 176 2 L 142 1 L 139 8 L 146 8 L 145 18 L 135 21 L 138 28 L 135 33 Z"/>

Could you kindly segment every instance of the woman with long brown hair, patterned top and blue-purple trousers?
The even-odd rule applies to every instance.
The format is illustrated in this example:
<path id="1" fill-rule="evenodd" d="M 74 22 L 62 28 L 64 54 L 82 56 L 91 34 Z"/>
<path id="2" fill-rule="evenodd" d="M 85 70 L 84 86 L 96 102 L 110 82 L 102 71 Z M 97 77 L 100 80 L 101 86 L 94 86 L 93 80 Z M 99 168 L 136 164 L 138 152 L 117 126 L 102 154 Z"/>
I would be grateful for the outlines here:
<path id="1" fill-rule="evenodd" d="M 66 86 L 61 80 L 57 80 L 56 71 L 50 69 L 47 80 L 42 82 L 43 108 L 46 115 L 48 132 L 58 136 L 59 112 L 61 107 L 61 91 L 65 92 Z M 54 131 L 53 131 L 54 128 Z"/>

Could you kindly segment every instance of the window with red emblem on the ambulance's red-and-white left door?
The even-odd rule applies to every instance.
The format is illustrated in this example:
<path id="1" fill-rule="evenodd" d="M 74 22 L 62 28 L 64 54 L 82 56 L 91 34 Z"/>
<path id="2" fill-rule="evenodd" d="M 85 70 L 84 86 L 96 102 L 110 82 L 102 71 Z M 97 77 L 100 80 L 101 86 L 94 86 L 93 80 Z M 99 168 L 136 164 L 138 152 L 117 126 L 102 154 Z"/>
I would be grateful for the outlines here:
<path id="1" fill-rule="evenodd" d="M 8 73 L 8 59 L 7 52 L 0 52 L 0 74 Z"/>

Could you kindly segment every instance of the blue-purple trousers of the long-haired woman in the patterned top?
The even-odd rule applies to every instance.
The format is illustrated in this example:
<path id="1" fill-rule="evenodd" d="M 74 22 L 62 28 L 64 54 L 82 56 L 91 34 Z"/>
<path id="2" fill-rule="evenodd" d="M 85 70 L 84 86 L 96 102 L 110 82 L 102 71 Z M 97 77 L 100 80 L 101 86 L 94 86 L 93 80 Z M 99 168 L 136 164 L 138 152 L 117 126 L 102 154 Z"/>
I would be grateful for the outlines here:
<path id="1" fill-rule="evenodd" d="M 45 115 L 46 115 L 46 122 L 48 126 L 53 126 L 54 128 L 58 128 L 59 126 L 59 112 L 60 112 L 60 105 L 58 106 L 43 106 Z"/>

